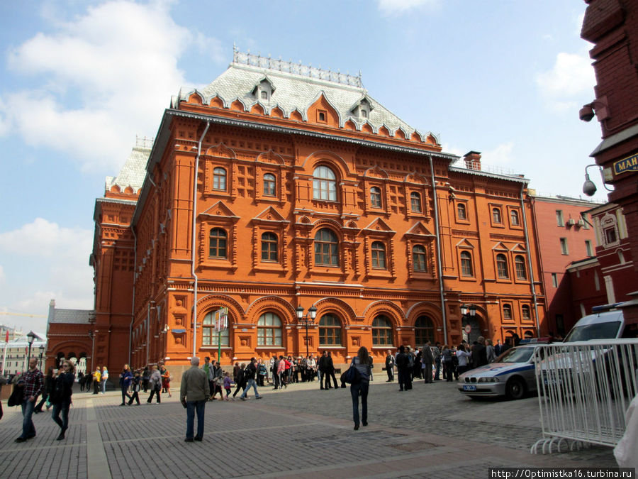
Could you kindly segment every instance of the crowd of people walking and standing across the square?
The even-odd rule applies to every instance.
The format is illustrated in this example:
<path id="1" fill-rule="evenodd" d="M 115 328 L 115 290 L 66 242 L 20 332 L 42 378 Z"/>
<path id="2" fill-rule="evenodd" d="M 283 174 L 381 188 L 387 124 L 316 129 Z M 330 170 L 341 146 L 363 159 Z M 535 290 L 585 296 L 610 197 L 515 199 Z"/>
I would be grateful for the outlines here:
<path id="1" fill-rule="evenodd" d="M 398 376 L 399 390 L 412 389 L 414 380 L 422 379 L 426 383 L 435 380 L 452 381 L 458 379 L 471 368 L 495 360 L 501 353 L 512 346 L 517 346 L 516 338 L 508 339 L 505 344 L 500 340 L 492 344 L 489 339 L 479 336 L 471 345 L 462 341 L 458 346 L 427 341 L 425 346 L 414 350 L 410 346 L 399 346 L 397 351 L 387 351 L 385 358 L 388 382 L 393 382 L 395 370 Z M 204 364 L 199 367 L 199 359 L 193 358 L 191 369 L 184 372 L 182 377 L 180 400 L 187 411 L 186 441 L 201 440 L 203 434 L 203 406 L 207 401 L 235 400 L 240 394 L 240 400 L 247 400 L 250 390 L 254 398 L 259 400 L 257 387 L 264 387 L 267 382 L 274 390 L 281 390 L 295 382 L 313 382 L 318 378 L 320 390 L 337 389 L 337 369 L 330 351 L 323 351 L 320 356 L 272 356 L 270 360 L 251 358 L 248 363 L 235 362 L 232 376 L 224 371 L 218 361 L 204 358 Z M 63 360 L 59 370 L 49 368 L 47 375 L 38 370 L 37 360 L 29 361 L 29 369 L 20 376 L 16 390 L 16 404 L 21 404 L 23 412 L 23 431 L 16 442 L 24 442 L 35 437 L 32 414 L 43 412 L 43 407 L 52 408 L 52 419 L 60 426 L 58 440 L 65 439 L 69 427 L 69 407 L 72 404 L 72 389 L 75 381 L 75 366 L 69 360 Z M 357 370 L 357 380 L 351 381 L 352 413 L 354 429 L 359 425 L 367 425 L 367 396 L 369 382 L 373 380 L 373 361 L 365 347 L 359 348 L 357 356 L 352 358 L 349 365 Z M 198 372 L 195 372 L 194 370 Z M 187 374 L 188 373 L 188 374 Z M 105 394 L 109 378 L 106 366 L 98 367 L 93 373 L 78 373 L 80 391 L 91 392 L 94 395 Z M 453 379 L 454 378 L 454 379 Z M 148 393 L 147 403 L 161 402 L 161 395 L 171 394 L 170 383 L 172 375 L 163 363 L 152 365 L 150 368 L 131 370 L 125 364 L 118 378 L 121 390 L 121 406 L 140 405 L 140 392 Z M 203 386 L 202 386 L 203 385 Z M 233 392 L 233 386 L 235 391 Z M 341 378 L 341 387 L 345 380 Z M 19 397 L 18 397 L 19 396 Z M 41 396 L 41 397 L 40 397 Z M 189 396 L 191 399 L 188 399 Z M 218 397 L 219 396 L 219 397 Z M 38 402 L 38 398 L 40 398 Z M 194 398 L 194 399 L 193 399 Z M 361 398 L 362 413 L 359 416 L 359 398 Z M 194 415 L 198 416 L 198 434 L 194 436 Z"/>

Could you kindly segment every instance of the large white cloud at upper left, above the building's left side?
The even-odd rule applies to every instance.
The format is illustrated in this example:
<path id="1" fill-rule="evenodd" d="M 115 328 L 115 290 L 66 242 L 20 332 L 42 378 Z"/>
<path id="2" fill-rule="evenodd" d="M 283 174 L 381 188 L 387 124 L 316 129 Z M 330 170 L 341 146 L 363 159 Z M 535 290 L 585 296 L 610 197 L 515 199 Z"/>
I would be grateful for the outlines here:
<path id="1" fill-rule="evenodd" d="M 166 2 L 110 1 L 52 24 L 55 33 L 9 53 L 9 67 L 43 82 L 5 94 L 0 134 L 69 153 L 84 170 L 115 169 L 135 134 L 155 134 L 171 95 L 186 86 L 177 62 L 187 49 L 223 60 L 219 41 L 174 23 Z"/>

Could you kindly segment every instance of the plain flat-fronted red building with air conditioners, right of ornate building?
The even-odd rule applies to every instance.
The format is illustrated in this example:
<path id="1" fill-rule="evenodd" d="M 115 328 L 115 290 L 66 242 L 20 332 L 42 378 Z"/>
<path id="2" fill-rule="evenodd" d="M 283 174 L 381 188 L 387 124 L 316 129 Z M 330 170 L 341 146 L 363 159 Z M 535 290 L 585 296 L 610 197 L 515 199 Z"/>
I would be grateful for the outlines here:
<path id="1" fill-rule="evenodd" d="M 564 336 L 582 316 L 573 313 L 575 285 L 565 268 L 595 256 L 595 230 L 586 213 L 593 203 L 569 197 L 530 196 L 547 304 L 545 325 L 547 331 Z M 591 296 L 592 292 L 587 294 Z"/>

